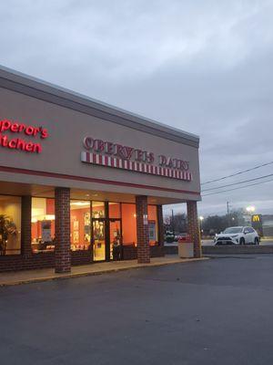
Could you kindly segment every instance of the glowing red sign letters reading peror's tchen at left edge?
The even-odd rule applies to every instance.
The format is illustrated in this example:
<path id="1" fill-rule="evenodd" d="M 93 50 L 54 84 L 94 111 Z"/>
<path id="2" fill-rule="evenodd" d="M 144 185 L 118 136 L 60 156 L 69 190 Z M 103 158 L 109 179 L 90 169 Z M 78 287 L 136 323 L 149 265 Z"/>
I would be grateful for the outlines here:
<path id="1" fill-rule="evenodd" d="M 7 133 L 7 134 L 6 134 Z M 12 135 L 20 137 L 10 138 Z M 24 138 L 21 138 L 21 136 Z M 19 150 L 31 153 L 41 153 L 42 145 L 39 142 L 25 141 L 25 138 L 31 137 L 35 140 L 45 140 L 48 132 L 43 127 L 26 125 L 13 120 L 0 120 L 0 146 L 10 150 Z"/>

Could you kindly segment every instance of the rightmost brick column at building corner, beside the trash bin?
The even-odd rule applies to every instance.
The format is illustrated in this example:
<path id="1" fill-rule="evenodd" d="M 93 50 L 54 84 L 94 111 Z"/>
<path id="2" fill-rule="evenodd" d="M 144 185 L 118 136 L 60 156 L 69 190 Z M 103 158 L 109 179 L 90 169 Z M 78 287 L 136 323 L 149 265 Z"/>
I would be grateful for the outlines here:
<path id="1" fill-rule="evenodd" d="M 187 230 L 194 244 L 195 257 L 201 257 L 202 249 L 197 215 L 197 202 L 194 201 L 187 202 Z"/>

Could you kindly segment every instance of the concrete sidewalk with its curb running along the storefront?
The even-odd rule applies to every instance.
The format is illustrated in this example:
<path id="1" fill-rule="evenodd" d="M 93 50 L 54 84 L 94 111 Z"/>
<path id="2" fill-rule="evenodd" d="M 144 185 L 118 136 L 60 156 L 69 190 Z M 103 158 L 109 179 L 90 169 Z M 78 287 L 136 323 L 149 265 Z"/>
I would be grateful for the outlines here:
<path id="1" fill-rule="evenodd" d="M 150 264 L 137 264 L 136 260 L 127 261 L 111 261 L 105 263 L 97 263 L 85 266 L 73 266 L 71 273 L 56 274 L 54 268 L 45 268 L 39 270 L 13 271 L 0 273 L 0 287 L 13 286 L 26 283 L 36 283 L 47 280 L 65 279 L 69 277 L 94 276 L 107 273 L 113 273 L 121 270 L 129 270 L 139 267 L 165 266 L 172 264 L 181 264 L 187 262 L 195 262 L 206 260 L 202 258 L 179 258 L 177 255 L 165 257 L 151 258 Z"/>

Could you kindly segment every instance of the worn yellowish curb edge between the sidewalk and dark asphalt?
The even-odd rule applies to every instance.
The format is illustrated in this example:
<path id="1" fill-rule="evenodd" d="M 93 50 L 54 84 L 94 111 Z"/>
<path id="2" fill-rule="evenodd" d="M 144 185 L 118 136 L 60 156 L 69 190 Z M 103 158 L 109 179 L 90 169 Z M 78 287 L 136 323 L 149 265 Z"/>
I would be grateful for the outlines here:
<path id="1" fill-rule="evenodd" d="M 22 284 L 31 284 L 31 283 L 40 283 L 45 281 L 52 281 L 52 280 L 62 280 L 62 279 L 69 279 L 69 278 L 76 278 L 81 276 L 97 276 L 103 274 L 111 274 L 116 273 L 118 271 L 126 271 L 131 269 L 137 269 L 142 267 L 155 267 L 155 266 L 167 266 L 167 265 L 175 265 L 175 264 L 184 264 L 184 263 L 191 263 L 197 261 L 204 261 L 208 260 L 209 257 L 200 257 L 200 258 L 186 258 L 186 259 L 177 259 L 176 261 L 167 261 L 167 262 L 160 262 L 160 263 L 151 263 L 151 264 L 137 264 L 136 266 L 126 266 L 126 267 L 113 267 L 107 268 L 97 271 L 84 271 L 81 273 L 67 273 L 67 274 L 53 274 L 50 276 L 43 276 L 43 277 L 32 277 L 32 278 L 25 278 L 25 279 L 17 279 L 11 282 L 4 282 L 0 283 L 0 287 L 12 287 Z M 20 274 L 20 272 L 18 272 Z"/>

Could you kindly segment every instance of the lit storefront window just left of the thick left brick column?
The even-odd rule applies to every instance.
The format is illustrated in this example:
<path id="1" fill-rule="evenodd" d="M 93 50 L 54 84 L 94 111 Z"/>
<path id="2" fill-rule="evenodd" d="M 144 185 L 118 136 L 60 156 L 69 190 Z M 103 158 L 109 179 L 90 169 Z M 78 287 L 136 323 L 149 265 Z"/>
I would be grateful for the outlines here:
<path id="1" fill-rule="evenodd" d="M 31 246 L 34 253 L 55 249 L 55 200 L 32 198 Z"/>

